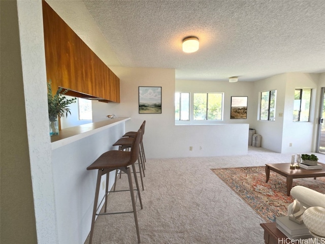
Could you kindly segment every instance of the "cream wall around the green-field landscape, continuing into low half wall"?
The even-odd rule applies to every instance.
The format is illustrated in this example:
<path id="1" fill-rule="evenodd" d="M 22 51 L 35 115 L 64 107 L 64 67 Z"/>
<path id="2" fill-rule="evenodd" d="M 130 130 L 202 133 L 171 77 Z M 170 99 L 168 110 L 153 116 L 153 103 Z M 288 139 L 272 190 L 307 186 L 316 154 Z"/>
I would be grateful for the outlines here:
<path id="1" fill-rule="evenodd" d="M 107 114 L 114 113 L 118 117 L 131 117 L 131 120 L 125 123 L 125 130 L 137 131 L 143 120 L 146 120 L 143 140 L 147 158 L 247 154 L 249 128 L 247 123 L 175 126 L 175 70 L 110 68 L 120 78 L 121 103 L 93 102 L 93 121 L 103 120 Z M 162 87 L 161 114 L 139 114 L 139 86 Z M 234 95 L 239 96 L 241 93 L 238 91 Z M 189 146 L 193 147 L 192 151 L 189 150 Z M 200 150 L 200 146 L 203 146 L 203 150 Z"/>

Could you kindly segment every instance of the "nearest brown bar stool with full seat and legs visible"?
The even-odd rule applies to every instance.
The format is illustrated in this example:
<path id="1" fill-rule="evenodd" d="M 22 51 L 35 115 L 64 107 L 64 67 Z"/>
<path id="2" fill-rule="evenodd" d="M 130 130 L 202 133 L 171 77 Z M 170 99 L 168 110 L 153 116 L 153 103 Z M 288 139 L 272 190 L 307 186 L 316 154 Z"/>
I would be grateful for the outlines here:
<path id="1" fill-rule="evenodd" d="M 134 189 L 132 184 L 132 176 L 131 176 L 131 169 L 128 167 L 129 165 L 132 165 L 134 178 L 136 182 L 135 189 L 139 195 L 139 201 L 142 206 L 141 201 L 141 195 L 139 191 L 139 184 L 137 179 L 137 173 L 135 170 L 135 162 L 138 160 L 139 157 L 139 150 L 140 150 L 140 139 L 141 139 L 142 131 L 139 129 L 136 136 L 134 137 L 133 143 L 131 145 L 131 151 L 123 151 L 123 150 L 110 150 L 106 153 L 102 154 L 98 159 L 95 160 L 90 166 L 87 167 L 87 170 L 92 169 L 98 169 L 98 175 L 97 175 L 97 181 L 96 181 L 96 190 L 95 190 L 95 199 L 93 204 L 93 211 L 92 211 L 92 220 L 91 220 L 91 228 L 90 228 L 90 237 L 89 237 L 89 244 L 92 242 L 92 236 L 93 236 L 93 229 L 95 224 L 95 216 L 96 215 L 110 215 L 110 214 L 123 214 L 123 213 L 134 213 L 134 219 L 136 224 L 136 230 L 137 230 L 137 236 L 138 236 L 138 243 L 140 243 L 140 232 L 139 232 L 139 225 L 138 225 L 138 217 L 137 217 L 137 209 L 136 209 L 136 200 L 134 195 Z M 121 170 L 128 176 L 128 184 L 129 184 L 129 191 L 131 193 L 131 200 L 132 200 L 132 206 L 133 211 L 128 212 L 111 212 L 107 213 L 107 195 L 109 193 L 108 191 L 108 181 L 109 181 L 109 173 L 113 170 Z M 101 187 L 101 177 L 102 175 L 106 174 L 106 192 L 105 196 L 103 197 L 102 201 L 105 198 L 105 212 L 103 214 L 97 214 L 98 211 L 98 197 L 99 197 L 99 191 Z M 128 191 L 128 190 L 127 190 Z M 116 191 L 118 192 L 118 191 Z"/>

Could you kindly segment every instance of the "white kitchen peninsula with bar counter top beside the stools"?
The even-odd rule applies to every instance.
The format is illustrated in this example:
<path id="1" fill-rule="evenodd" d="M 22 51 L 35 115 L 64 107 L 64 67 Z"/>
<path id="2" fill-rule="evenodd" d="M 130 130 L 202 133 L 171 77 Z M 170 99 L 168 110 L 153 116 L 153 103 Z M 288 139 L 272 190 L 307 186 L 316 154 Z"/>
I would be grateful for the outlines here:
<path id="1" fill-rule="evenodd" d="M 113 118 L 63 129 L 52 137 L 55 211 L 59 243 L 84 243 L 90 231 L 97 172 L 86 170 L 125 133 L 125 121 Z M 115 171 L 110 175 L 113 185 Z M 106 178 L 102 178 L 102 182 Z M 101 188 L 100 197 L 105 192 Z"/>

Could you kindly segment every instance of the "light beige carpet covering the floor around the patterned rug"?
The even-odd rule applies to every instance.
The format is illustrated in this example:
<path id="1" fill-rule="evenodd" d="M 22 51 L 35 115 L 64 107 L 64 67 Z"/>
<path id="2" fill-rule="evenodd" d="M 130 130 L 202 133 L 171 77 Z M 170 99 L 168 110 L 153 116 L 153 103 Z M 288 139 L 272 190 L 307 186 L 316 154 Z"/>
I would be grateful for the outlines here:
<path id="1" fill-rule="evenodd" d="M 325 155 L 316 155 L 325 162 Z M 265 221 L 210 169 L 290 159 L 291 154 L 252 146 L 244 156 L 147 159 L 143 209 L 137 202 L 141 243 L 264 243 L 259 224 Z M 117 187 L 127 186 L 124 174 Z M 132 210 L 129 192 L 112 193 L 108 198 L 110 211 Z M 93 243 L 138 243 L 133 214 L 100 216 Z"/>

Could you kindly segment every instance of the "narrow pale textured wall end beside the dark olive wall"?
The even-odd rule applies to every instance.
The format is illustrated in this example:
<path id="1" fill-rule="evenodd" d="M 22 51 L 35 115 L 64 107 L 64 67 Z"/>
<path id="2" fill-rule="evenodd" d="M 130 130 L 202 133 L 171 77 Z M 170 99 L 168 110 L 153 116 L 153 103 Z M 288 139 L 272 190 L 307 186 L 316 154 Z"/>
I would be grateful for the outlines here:
<path id="1" fill-rule="evenodd" d="M 38 243 L 58 243 L 47 107 L 42 1 L 17 1 L 17 9 L 37 238 Z"/>

